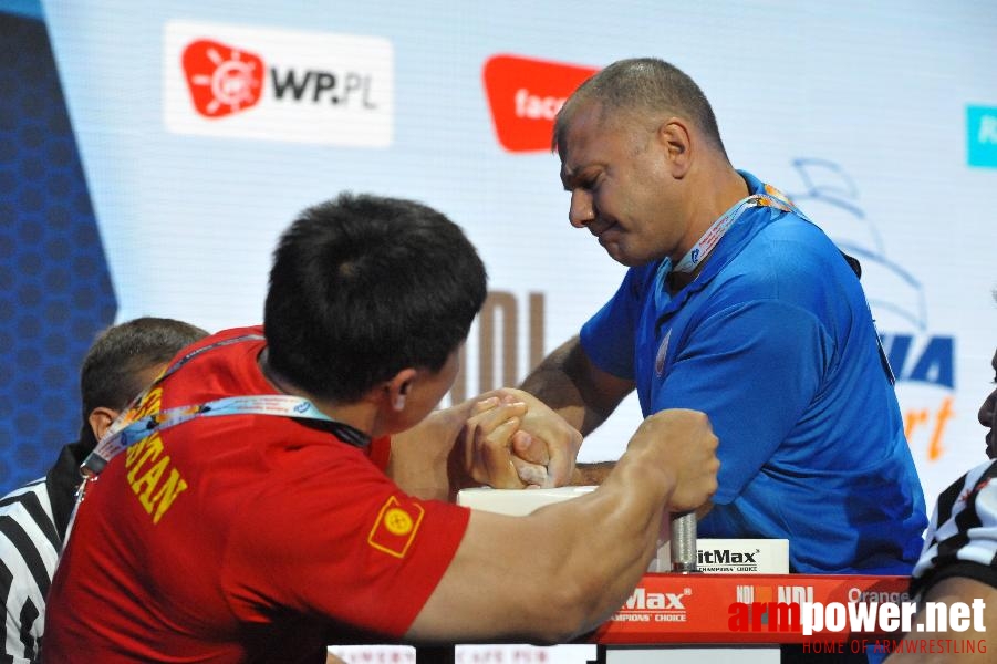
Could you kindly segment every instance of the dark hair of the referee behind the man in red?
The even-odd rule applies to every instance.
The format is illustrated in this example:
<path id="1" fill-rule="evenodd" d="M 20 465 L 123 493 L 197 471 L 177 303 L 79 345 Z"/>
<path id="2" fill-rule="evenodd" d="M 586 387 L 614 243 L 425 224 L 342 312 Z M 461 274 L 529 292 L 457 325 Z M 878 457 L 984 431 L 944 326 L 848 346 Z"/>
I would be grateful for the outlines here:
<path id="1" fill-rule="evenodd" d="M 144 371 L 168 362 L 186 345 L 204 339 L 200 328 L 165 318 L 137 318 L 107 328 L 83 357 L 80 394 L 83 401 L 83 427 L 97 407 L 124 409 L 146 385 Z"/>

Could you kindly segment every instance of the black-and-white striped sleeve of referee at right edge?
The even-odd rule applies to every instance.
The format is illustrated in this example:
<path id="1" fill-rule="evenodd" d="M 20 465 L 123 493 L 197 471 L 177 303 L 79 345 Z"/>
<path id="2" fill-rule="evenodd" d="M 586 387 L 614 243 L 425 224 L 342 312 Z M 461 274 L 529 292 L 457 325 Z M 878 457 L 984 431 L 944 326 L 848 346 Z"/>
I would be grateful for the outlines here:
<path id="1" fill-rule="evenodd" d="M 949 577 L 997 588 L 997 460 L 973 468 L 938 496 L 911 595 Z"/>

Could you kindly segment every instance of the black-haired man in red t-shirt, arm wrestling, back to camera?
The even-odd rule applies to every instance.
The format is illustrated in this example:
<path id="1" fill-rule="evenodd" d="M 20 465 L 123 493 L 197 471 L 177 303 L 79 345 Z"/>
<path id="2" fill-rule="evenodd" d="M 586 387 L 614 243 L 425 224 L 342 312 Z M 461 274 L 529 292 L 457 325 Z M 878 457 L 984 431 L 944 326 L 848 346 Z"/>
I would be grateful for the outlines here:
<path id="1" fill-rule="evenodd" d="M 564 483 L 579 445 L 518 391 L 434 412 L 485 295 L 474 247 L 426 206 L 342 195 L 302 212 L 264 325 L 187 349 L 89 460 L 43 661 L 318 663 L 356 639 L 598 625 L 664 511 L 715 490 L 716 438 L 666 412 L 591 495 L 525 518 L 440 500 L 538 466 Z"/>

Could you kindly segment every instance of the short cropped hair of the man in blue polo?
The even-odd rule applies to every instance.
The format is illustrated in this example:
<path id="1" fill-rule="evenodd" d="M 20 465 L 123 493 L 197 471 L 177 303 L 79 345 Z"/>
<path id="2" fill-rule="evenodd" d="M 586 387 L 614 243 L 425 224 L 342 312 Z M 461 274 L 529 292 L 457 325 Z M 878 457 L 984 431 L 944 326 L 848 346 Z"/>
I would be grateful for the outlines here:
<path id="1" fill-rule="evenodd" d="M 564 132 L 582 104 L 601 106 L 604 122 L 619 114 L 676 114 L 693 121 L 714 146 L 727 156 L 720 129 L 706 95 L 685 72 L 656 58 L 620 60 L 600 70 L 572 93 L 554 121 L 552 148 L 563 145 Z"/>

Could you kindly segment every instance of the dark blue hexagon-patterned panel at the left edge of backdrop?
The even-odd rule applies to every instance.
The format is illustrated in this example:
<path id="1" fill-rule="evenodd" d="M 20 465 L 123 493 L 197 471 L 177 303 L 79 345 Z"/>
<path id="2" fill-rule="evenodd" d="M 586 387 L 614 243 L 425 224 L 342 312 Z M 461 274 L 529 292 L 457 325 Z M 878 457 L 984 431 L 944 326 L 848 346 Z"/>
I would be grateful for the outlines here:
<path id="1" fill-rule="evenodd" d="M 37 4 L 0 6 L 0 489 L 81 425 L 79 367 L 117 309 Z"/>

